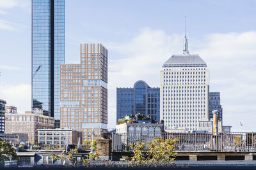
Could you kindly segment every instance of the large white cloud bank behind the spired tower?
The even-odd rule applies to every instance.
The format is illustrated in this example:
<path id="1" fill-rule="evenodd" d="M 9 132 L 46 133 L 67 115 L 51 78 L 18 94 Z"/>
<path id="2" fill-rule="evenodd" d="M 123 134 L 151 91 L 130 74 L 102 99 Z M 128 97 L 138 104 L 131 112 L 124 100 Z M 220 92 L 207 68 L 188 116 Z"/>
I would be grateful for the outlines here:
<path id="1" fill-rule="evenodd" d="M 104 43 L 109 52 L 109 127 L 115 127 L 116 87 L 133 87 L 138 80 L 159 87 L 161 67 L 172 54 L 182 53 L 182 40 L 183 35 L 143 28 L 126 43 Z M 223 122 L 233 131 L 241 128 L 239 122 L 243 129 L 256 130 L 255 44 L 256 32 L 208 34 L 196 43 L 189 41 L 195 48 L 189 52 L 199 53 L 209 66 L 210 90 L 221 93 Z"/>

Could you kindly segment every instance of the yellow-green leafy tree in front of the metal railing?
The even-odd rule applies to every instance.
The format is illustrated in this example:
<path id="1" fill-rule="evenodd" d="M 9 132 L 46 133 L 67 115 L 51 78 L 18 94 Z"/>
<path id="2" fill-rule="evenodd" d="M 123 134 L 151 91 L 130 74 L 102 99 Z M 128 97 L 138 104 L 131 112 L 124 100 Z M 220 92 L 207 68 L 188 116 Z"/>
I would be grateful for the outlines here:
<path id="1" fill-rule="evenodd" d="M 129 166 L 139 167 L 161 167 L 173 166 L 173 160 L 177 153 L 173 152 L 175 139 L 154 138 L 154 141 L 147 142 L 147 150 L 145 143 L 138 142 L 136 145 L 131 144 L 134 156 L 129 160 Z"/>

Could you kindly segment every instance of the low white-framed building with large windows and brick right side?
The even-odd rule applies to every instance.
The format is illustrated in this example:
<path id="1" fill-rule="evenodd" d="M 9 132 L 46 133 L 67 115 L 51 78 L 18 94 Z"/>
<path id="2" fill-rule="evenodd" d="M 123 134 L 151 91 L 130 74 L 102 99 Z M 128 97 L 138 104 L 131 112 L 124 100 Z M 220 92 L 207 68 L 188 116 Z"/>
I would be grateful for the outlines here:
<path id="1" fill-rule="evenodd" d="M 63 148 L 66 145 L 82 144 L 83 133 L 72 129 L 38 129 L 40 145 L 54 145 Z"/>

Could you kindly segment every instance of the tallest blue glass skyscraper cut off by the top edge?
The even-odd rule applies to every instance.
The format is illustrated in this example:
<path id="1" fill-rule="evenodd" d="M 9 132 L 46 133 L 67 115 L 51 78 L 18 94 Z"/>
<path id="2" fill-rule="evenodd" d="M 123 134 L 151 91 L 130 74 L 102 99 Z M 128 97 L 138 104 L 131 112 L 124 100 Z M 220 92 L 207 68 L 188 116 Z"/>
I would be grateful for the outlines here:
<path id="1" fill-rule="evenodd" d="M 65 0 L 32 0 L 32 108 L 60 127 L 60 64 L 65 64 Z"/>

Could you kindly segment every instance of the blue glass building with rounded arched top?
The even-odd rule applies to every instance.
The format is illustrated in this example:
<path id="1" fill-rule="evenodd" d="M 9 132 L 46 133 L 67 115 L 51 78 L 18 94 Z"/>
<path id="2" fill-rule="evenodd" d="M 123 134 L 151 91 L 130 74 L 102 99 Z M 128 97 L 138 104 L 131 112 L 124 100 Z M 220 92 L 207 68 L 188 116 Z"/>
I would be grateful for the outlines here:
<path id="1" fill-rule="evenodd" d="M 160 89 L 145 81 L 136 81 L 133 88 L 116 88 L 116 122 L 126 115 L 141 113 L 152 120 L 160 120 Z"/>

